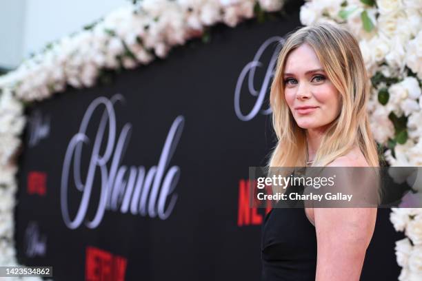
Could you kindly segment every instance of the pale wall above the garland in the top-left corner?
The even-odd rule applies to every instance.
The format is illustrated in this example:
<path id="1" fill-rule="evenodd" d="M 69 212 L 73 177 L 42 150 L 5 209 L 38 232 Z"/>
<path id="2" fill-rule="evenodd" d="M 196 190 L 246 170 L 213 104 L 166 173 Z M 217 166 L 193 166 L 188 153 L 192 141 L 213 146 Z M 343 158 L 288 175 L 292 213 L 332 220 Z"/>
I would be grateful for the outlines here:
<path id="1" fill-rule="evenodd" d="M 47 43 L 81 30 L 130 0 L 1 0 L 0 67 L 16 67 Z"/>

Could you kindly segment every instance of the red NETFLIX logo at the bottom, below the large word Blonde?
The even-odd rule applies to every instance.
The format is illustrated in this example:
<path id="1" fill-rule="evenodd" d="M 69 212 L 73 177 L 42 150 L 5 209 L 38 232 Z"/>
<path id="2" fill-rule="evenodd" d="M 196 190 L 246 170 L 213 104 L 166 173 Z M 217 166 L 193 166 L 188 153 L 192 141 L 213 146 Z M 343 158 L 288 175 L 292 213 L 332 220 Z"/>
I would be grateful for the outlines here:
<path id="1" fill-rule="evenodd" d="M 95 247 L 86 248 L 87 281 L 124 281 L 128 261 L 108 251 Z"/>

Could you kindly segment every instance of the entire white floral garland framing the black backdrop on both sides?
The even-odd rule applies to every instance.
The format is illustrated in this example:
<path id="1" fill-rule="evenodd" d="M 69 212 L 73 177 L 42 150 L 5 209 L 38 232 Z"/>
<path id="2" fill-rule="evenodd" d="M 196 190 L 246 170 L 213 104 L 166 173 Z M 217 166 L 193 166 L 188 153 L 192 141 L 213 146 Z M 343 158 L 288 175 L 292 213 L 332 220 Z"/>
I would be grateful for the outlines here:
<path id="1" fill-rule="evenodd" d="M 175 45 L 202 37 L 210 26 L 231 27 L 281 10 L 282 0 L 143 0 L 123 7 L 82 32 L 0 76 L 0 265 L 16 265 L 12 242 L 17 191 L 15 156 L 26 118 L 22 102 L 40 101 L 67 85 L 91 87 L 107 71 L 148 65 Z M 422 165 L 422 1 L 313 0 L 301 7 L 301 22 L 343 23 L 359 39 L 372 76 L 370 122 L 392 166 Z M 409 196 L 412 196 L 410 194 Z M 422 213 L 394 209 L 391 220 L 408 238 L 396 242 L 399 280 L 421 280 Z M 415 279 L 416 278 L 416 279 Z"/>

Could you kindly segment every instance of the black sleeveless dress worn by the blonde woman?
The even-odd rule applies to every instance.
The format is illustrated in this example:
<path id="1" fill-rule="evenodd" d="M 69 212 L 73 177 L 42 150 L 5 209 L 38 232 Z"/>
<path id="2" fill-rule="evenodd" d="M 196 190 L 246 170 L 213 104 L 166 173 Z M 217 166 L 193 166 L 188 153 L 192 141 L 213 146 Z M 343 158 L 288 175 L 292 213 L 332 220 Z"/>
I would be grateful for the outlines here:
<path id="1" fill-rule="evenodd" d="M 303 193 L 303 187 L 288 187 Z M 279 201 L 265 216 L 262 226 L 261 281 L 315 280 L 316 233 L 305 215 L 303 201 Z M 299 207 L 301 206 L 301 207 Z"/>

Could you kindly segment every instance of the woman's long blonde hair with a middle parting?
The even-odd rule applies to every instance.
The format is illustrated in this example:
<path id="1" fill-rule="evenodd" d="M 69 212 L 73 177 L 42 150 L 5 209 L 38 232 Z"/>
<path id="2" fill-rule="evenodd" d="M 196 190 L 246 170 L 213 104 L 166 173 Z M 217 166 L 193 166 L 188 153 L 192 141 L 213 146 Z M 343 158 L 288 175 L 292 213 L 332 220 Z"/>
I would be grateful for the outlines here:
<path id="1" fill-rule="evenodd" d="M 354 145 L 372 167 L 379 167 L 376 143 L 370 131 L 367 103 L 370 80 L 356 39 L 340 25 L 320 23 L 294 31 L 286 39 L 277 60 L 271 85 L 270 106 L 277 145 L 270 167 L 304 167 L 308 144 L 305 129 L 294 121 L 284 97 L 284 68 L 290 52 L 308 43 L 318 56 L 325 73 L 341 94 L 341 112 L 321 139 L 312 166 L 324 167 L 347 154 Z"/>

